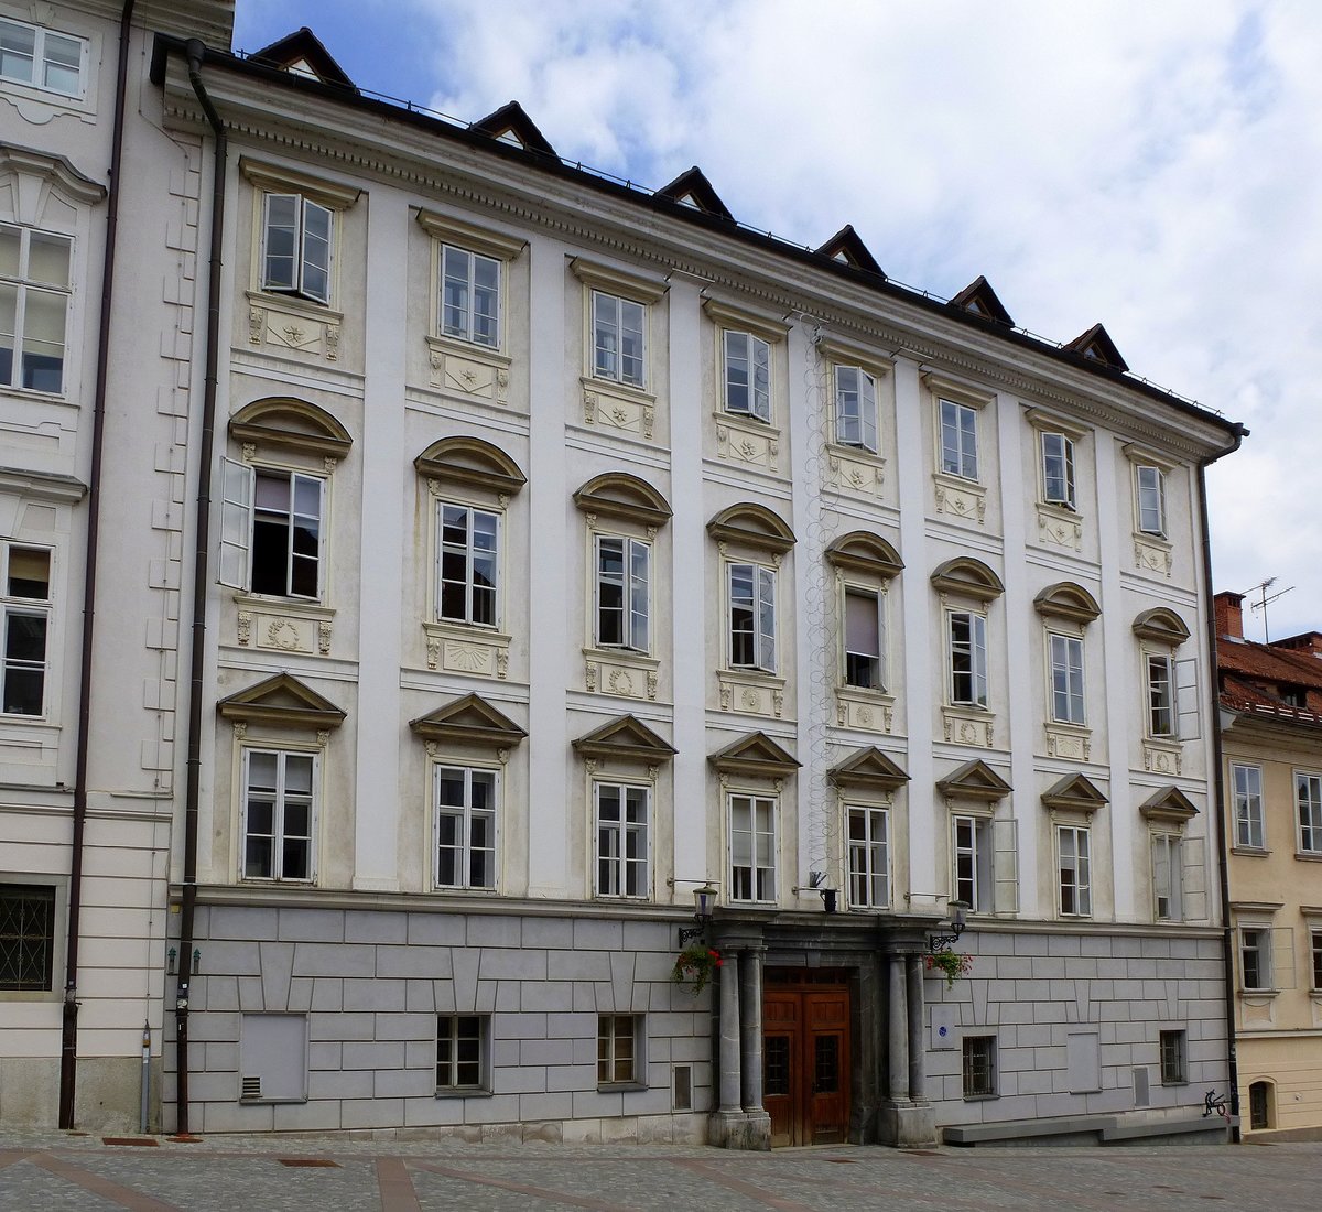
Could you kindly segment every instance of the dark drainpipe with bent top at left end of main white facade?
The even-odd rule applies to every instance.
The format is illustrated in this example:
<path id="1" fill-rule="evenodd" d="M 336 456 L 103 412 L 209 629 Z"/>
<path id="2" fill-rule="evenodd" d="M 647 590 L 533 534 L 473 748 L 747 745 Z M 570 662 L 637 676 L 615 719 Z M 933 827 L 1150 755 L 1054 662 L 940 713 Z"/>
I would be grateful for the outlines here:
<path id="1" fill-rule="evenodd" d="M 184 46 L 188 79 L 215 132 L 212 165 L 212 250 L 206 282 L 206 377 L 202 387 L 202 435 L 198 443 L 197 472 L 197 550 L 193 556 L 193 634 L 188 701 L 188 780 L 184 790 L 184 895 L 178 923 L 178 985 L 175 994 L 175 1047 L 177 1080 L 177 1127 L 188 1123 L 188 986 L 193 975 L 193 915 L 197 907 L 197 801 L 202 769 L 202 698 L 206 657 L 206 587 L 210 582 L 208 549 L 212 533 L 212 441 L 215 430 L 217 337 L 221 322 L 221 248 L 225 235 L 225 157 L 227 140 L 221 115 L 215 112 L 202 83 L 202 57 L 206 46 L 189 38 Z"/>

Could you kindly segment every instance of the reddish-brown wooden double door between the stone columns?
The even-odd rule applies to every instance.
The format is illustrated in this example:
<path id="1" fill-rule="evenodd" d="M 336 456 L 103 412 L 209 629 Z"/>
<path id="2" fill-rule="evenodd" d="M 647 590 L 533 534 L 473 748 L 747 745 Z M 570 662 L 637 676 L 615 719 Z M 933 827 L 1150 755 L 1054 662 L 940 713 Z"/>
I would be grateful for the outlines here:
<path id="1" fill-rule="evenodd" d="M 768 969 L 761 1088 L 771 1143 L 832 1145 L 849 1133 L 850 1007 L 843 973 Z"/>

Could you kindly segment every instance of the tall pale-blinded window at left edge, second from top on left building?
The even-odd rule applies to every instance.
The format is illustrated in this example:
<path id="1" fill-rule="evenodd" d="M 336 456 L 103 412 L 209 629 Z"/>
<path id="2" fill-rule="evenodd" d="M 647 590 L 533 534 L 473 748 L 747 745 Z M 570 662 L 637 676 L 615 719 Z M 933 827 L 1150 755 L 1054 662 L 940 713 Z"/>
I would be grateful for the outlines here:
<path id="1" fill-rule="evenodd" d="M 65 390 L 71 263 L 67 235 L 0 223 L 0 386 Z"/>

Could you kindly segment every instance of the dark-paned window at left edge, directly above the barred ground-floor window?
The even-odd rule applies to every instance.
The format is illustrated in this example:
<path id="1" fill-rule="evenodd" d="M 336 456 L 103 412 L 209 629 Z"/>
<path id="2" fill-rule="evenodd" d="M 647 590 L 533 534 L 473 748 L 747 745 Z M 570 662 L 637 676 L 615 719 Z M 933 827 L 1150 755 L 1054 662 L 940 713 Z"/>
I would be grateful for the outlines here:
<path id="1" fill-rule="evenodd" d="M 0 714 L 45 712 L 49 630 L 50 551 L 0 541 Z"/>

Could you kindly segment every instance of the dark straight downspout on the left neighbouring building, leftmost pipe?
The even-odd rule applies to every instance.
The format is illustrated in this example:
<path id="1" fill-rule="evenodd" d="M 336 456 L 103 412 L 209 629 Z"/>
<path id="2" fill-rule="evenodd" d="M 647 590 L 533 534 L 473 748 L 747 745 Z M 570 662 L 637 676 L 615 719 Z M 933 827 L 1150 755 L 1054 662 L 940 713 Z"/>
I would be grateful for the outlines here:
<path id="1" fill-rule="evenodd" d="M 82 920 L 83 835 L 87 826 L 87 749 L 91 744 L 91 661 L 97 621 L 97 551 L 100 546 L 100 461 L 110 382 L 110 317 L 115 295 L 115 241 L 119 230 L 119 176 L 124 159 L 124 102 L 128 94 L 128 34 L 135 0 L 119 16 L 119 63 L 115 70 L 115 122 L 110 140 L 110 189 L 106 204 L 106 251 L 100 272 L 97 332 L 97 383 L 91 404 L 91 469 L 87 476 L 87 556 L 83 574 L 82 650 L 78 661 L 78 735 L 74 741 L 74 819 L 69 862 L 69 937 L 65 948 L 65 1004 L 59 1030 L 59 1126 L 74 1126 L 78 1089 L 78 941 Z"/>

